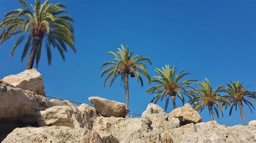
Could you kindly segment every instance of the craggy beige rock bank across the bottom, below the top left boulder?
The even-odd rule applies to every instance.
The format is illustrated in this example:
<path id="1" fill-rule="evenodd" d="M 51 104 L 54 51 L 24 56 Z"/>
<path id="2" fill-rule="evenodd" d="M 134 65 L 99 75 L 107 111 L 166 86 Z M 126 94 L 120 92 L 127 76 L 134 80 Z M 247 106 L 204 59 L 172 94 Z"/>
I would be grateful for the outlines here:
<path id="1" fill-rule="evenodd" d="M 77 106 L 69 101 L 47 100 L 3 80 L 0 84 L 3 143 L 256 142 L 255 121 L 249 122 L 249 126 L 233 127 L 215 121 L 202 123 L 189 104 L 168 115 L 160 106 L 148 104 L 140 118 L 123 118 L 129 110 L 116 101 L 91 97 L 95 107 Z"/>

